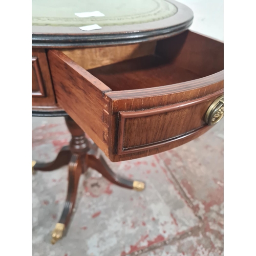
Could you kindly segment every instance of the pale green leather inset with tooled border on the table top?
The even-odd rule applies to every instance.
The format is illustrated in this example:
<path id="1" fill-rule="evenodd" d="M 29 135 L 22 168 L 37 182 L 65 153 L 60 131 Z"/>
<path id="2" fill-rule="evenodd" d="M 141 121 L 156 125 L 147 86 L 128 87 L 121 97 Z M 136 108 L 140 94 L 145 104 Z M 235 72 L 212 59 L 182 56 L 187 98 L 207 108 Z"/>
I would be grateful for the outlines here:
<path id="1" fill-rule="evenodd" d="M 164 0 L 32 0 L 33 26 L 133 25 L 171 17 L 177 7 Z M 80 18 L 77 12 L 105 16 Z"/>

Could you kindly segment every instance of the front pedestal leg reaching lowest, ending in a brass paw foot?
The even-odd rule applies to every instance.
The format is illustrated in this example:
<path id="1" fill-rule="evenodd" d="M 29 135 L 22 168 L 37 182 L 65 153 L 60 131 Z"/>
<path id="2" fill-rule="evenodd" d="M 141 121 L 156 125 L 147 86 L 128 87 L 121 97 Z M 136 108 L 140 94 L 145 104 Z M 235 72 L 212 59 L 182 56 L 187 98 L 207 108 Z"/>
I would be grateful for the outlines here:
<path id="1" fill-rule="evenodd" d="M 79 177 L 84 167 L 84 156 L 81 157 L 78 154 L 73 154 L 69 163 L 69 184 L 68 194 L 65 202 L 62 215 L 59 222 L 56 224 L 55 229 L 52 232 L 52 244 L 55 244 L 63 236 L 63 231 L 67 227 L 72 215 L 72 210 L 76 201 L 77 186 Z"/>

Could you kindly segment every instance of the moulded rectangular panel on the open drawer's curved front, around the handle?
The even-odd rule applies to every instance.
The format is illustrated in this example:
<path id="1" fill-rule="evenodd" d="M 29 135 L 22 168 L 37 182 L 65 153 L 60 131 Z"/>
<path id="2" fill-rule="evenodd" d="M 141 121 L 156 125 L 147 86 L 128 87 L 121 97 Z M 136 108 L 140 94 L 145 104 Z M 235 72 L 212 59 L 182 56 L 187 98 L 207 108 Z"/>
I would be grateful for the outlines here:
<path id="1" fill-rule="evenodd" d="M 204 116 L 223 90 L 196 100 L 137 112 L 119 112 L 117 154 L 150 150 L 199 133 Z"/>

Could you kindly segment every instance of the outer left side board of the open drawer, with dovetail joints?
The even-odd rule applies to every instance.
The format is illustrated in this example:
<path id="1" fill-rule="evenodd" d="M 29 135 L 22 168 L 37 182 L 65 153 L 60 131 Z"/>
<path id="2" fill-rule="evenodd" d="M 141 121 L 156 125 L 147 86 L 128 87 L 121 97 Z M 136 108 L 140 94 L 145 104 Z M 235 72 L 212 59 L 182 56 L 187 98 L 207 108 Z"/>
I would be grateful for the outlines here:
<path id="1" fill-rule="evenodd" d="M 48 58 L 58 103 L 108 155 L 109 126 L 102 117 L 111 89 L 60 51 L 50 50 Z"/>

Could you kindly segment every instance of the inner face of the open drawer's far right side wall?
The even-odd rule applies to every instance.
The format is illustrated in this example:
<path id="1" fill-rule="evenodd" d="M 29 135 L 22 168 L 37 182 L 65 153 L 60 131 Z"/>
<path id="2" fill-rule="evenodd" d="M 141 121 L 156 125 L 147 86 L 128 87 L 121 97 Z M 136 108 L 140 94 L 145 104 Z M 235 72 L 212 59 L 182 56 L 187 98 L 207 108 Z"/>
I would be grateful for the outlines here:
<path id="1" fill-rule="evenodd" d="M 188 69 L 201 77 L 224 69 L 223 42 L 189 30 L 159 40 L 156 54 L 171 59 L 174 65 Z"/>

